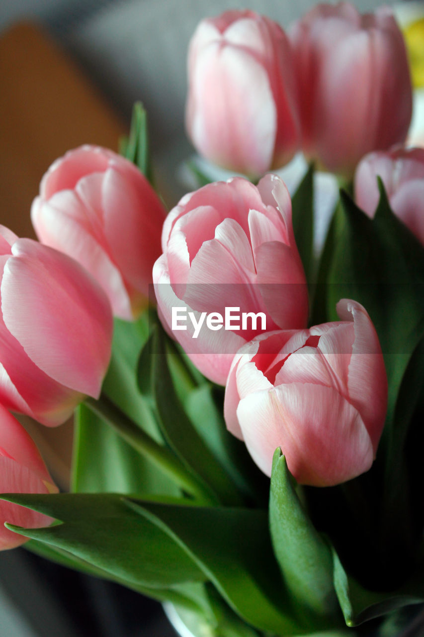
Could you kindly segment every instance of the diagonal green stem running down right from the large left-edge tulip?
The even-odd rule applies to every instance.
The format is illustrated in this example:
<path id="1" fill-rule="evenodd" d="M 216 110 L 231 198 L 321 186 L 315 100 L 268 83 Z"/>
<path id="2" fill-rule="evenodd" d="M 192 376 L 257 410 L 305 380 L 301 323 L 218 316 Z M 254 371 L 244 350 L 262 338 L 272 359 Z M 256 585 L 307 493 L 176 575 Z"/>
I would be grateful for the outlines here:
<path id="1" fill-rule="evenodd" d="M 160 445 L 141 427 L 125 415 L 110 399 L 101 394 L 95 400 L 89 396 L 85 399 L 85 405 L 102 420 L 108 423 L 123 440 L 125 440 L 139 454 L 152 461 L 163 473 L 176 482 L 181 489 L 190 494 L 199 505 L 216 505 L 207 488 L 199 483 L 178 460 L 176 455 L 167 447 Z"/>

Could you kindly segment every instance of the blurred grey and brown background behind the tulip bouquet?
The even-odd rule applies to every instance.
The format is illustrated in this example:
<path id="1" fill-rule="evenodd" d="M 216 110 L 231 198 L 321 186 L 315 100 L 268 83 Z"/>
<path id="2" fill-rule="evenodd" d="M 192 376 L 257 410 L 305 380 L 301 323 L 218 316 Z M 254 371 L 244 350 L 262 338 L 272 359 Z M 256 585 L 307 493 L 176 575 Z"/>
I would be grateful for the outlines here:
<path id="1" fill-rule="evenodd" d="M 20 236 L 34 236 L 29 210 L 48 166 L 82 143 L 117 150 L 136 100 L 148 111 L 159 189 L 169 206 L 176 203 L 187 189 L 180 167 L 193 152 L 185 138 L 183 113 L 187 46 L 197 22 L 227 8 L 252 8 L 284 28 L 313 4 L 0 0 L 0 223 Z M 367 11 L 381 2 L 354 4 Z M 398 2 L 396 11 L 408 25 L 424 15 L 424 3 Z M 416 100 L 422 110 L 422 89 Z M 424 143 L 423 129 L 421 114 L 413 131 L 423 135 Z M 25 426 L 53 478 L 66 490 L 72 424 L 48 431 L 31 422 Z M 0 554 L 0 626 L 2 637 L 176 634 L 159 604 L 66 571 L 25 548 Z"/>

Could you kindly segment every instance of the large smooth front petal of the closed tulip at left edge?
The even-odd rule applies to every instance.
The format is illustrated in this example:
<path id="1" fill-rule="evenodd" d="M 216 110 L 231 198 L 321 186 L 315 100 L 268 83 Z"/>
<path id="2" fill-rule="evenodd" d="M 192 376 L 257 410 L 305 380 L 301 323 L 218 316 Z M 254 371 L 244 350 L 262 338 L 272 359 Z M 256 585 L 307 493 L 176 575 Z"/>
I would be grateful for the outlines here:
<path id="1" fill-rule="evenodd" d="M 4 324 L 48 376 L 97 397 L 112 331 L 104 292 L 76 261 L 36 241 L 20 239 L 12 253 L 1 282 Z"/>

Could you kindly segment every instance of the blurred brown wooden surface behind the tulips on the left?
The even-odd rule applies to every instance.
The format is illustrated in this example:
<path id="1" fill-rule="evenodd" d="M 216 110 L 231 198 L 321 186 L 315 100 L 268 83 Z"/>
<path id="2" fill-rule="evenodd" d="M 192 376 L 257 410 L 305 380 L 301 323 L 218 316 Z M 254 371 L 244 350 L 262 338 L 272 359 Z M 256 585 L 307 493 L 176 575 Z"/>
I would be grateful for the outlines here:
<path id="1" fill-rule="evenodd" d="M 0 38 L 0 224 L 32 236 L 29 211 L 50 164 L 70 148 L 113 150 L 126 127 L 81 70 L 31 24 Z M 69 482 L 72 423 L 25 426 L 60 487 Z"/>

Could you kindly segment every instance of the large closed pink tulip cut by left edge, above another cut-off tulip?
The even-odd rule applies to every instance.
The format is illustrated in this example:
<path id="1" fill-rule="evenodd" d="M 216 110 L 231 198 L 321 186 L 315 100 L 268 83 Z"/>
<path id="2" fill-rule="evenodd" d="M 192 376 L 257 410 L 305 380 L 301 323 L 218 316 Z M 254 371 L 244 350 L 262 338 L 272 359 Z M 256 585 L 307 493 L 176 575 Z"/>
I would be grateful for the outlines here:
<path id="1" fill-rule="evenodd" d="M 111 352 L 103 290 L 76 261 L 0 226 L 0 401 L 48 426 L 97 397 Z"/>

